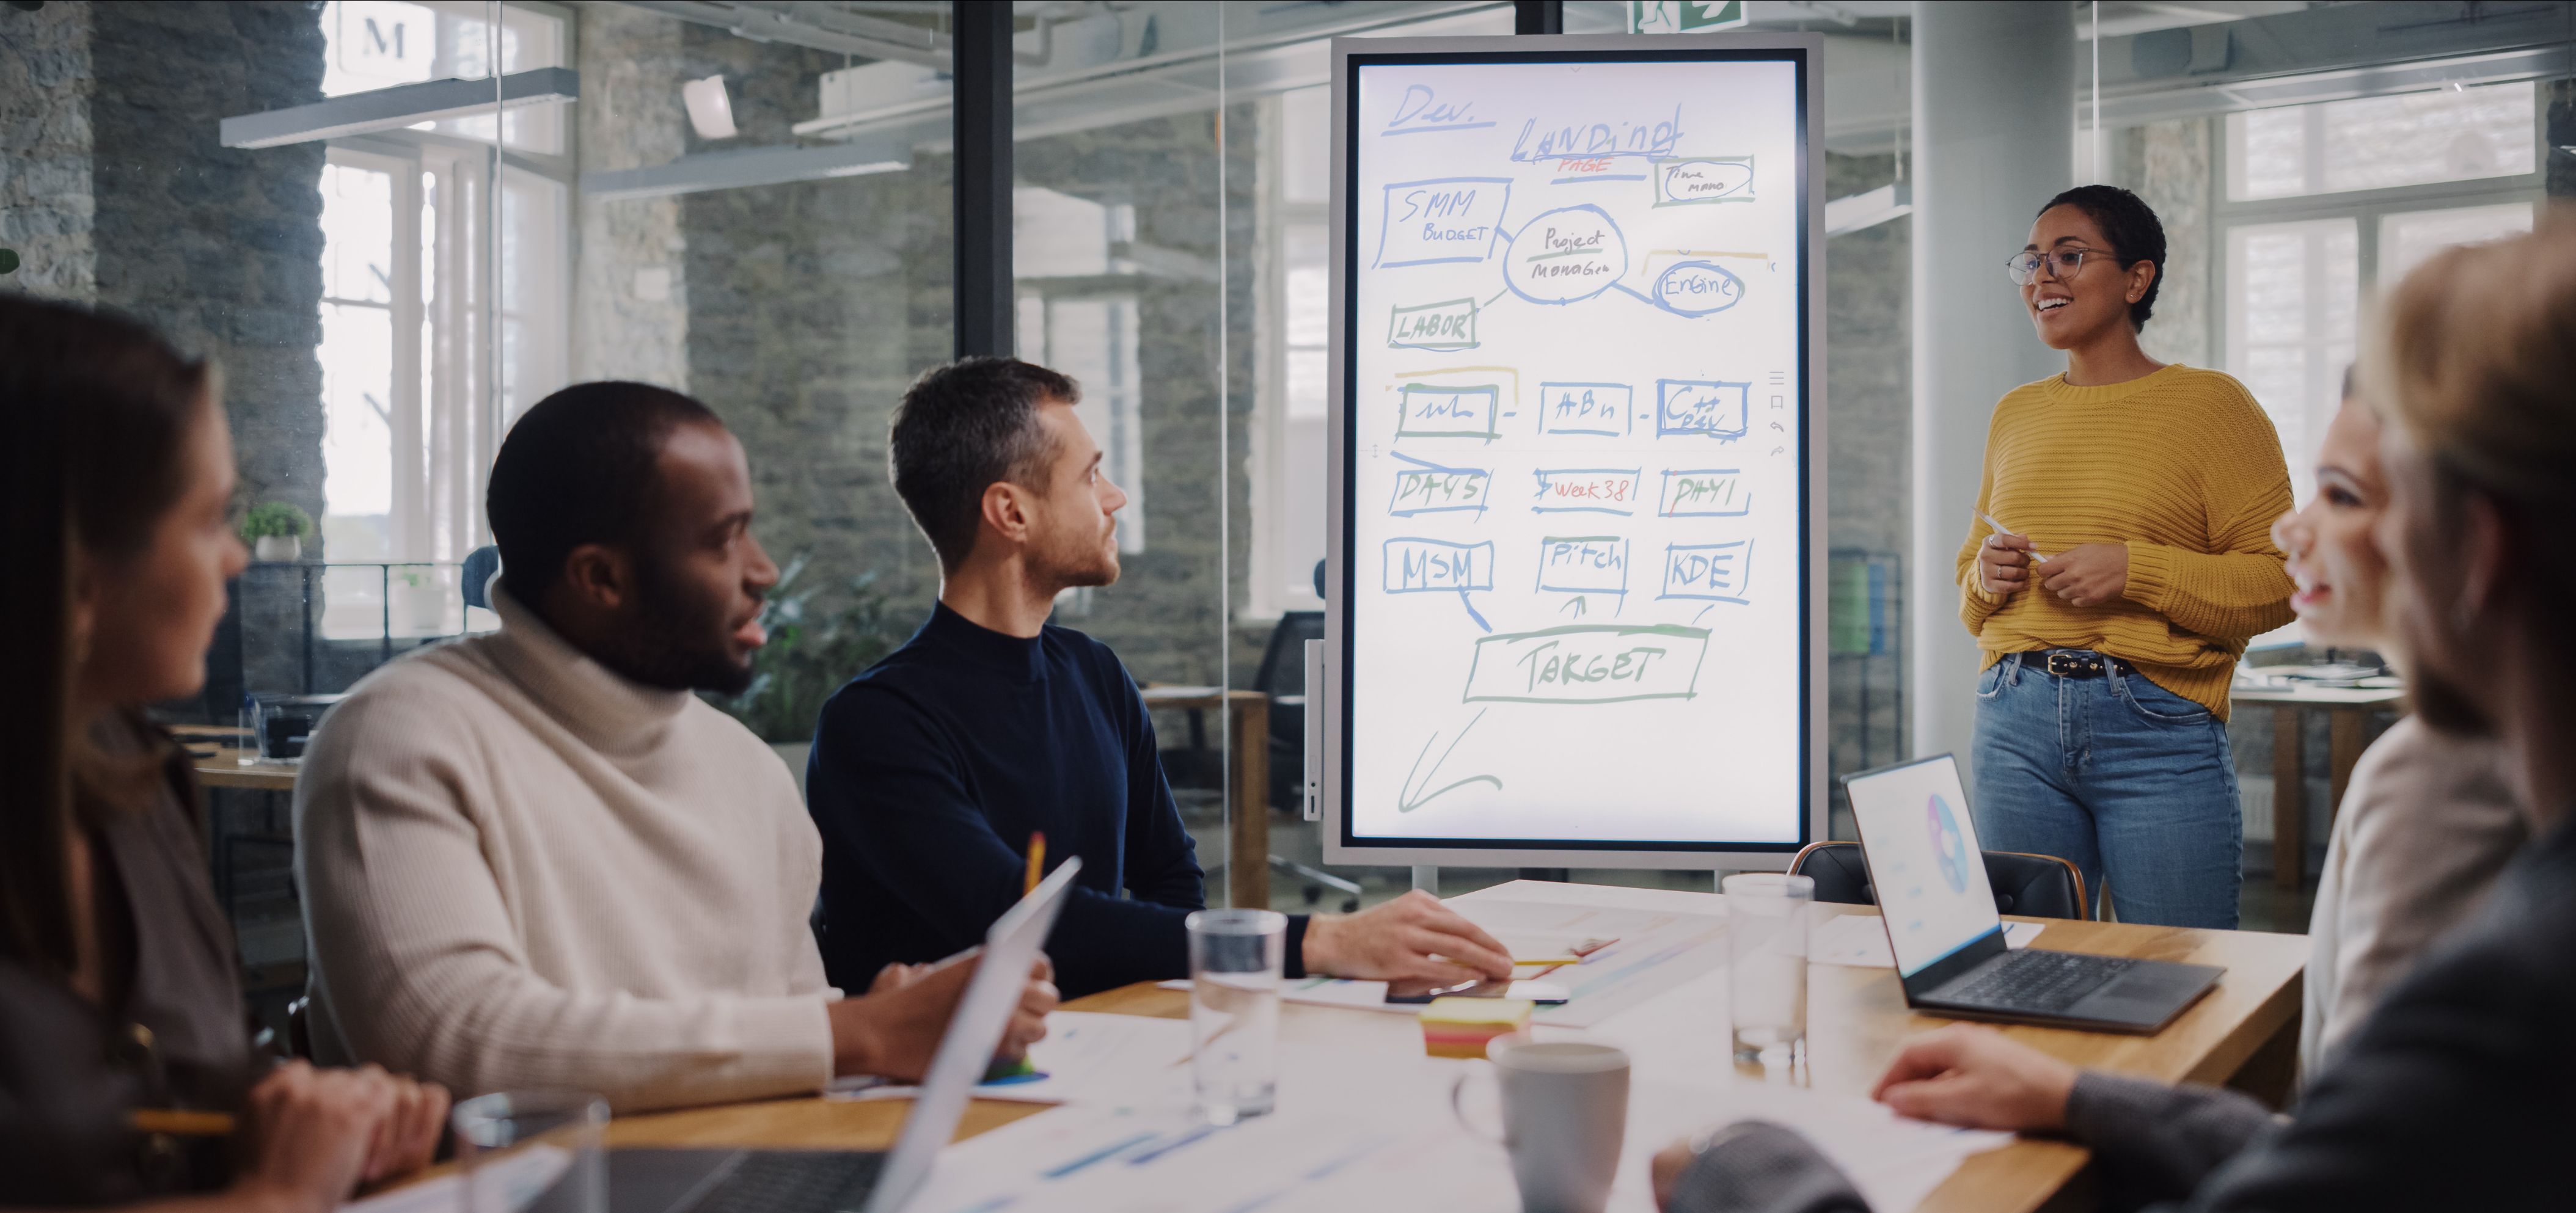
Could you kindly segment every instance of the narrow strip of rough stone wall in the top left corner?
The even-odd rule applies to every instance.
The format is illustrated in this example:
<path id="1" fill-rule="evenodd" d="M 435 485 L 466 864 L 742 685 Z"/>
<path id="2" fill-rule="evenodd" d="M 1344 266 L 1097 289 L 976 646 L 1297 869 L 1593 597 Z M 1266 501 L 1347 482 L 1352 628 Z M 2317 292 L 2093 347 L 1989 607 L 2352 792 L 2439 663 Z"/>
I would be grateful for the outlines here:
<path id="1" fill-rule="evenodd" d="M 90 5 L 0 10 L 0 288 L 90 301 Z"/>

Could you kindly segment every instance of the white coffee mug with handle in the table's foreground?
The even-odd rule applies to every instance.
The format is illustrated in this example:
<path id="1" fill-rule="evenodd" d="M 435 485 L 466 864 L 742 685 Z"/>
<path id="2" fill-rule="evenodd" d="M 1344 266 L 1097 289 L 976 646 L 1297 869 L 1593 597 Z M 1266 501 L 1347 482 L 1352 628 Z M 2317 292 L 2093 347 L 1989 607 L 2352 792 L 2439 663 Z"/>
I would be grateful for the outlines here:
<path id="1" fill-rule="evenodd" d="M 1522 1213 L 1602 1213 L 1628 1136 L 1628 1053 L 1592 1040 L 1499 1035 L 1484 1046 L 1502 1089 L 1502 1136 L 1468 1120 L 1473 1074 L 1450 1084 L 1450 1113 L 1512 1156 Z"/>

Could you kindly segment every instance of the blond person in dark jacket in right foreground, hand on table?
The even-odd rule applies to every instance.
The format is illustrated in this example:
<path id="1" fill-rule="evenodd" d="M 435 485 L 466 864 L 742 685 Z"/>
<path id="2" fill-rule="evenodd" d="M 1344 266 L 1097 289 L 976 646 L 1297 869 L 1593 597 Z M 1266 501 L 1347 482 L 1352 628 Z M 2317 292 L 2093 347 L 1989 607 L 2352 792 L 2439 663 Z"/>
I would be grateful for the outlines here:
<path id="1" fill-rule="evenodd" d="M 2416 713 L 2494 737 L 2535 837 L 2275 1118 L 2210 1087 L 2074 1066 L 1984 1028 L 1906 1043 L 1888 1107 L 2061 1133 L 2182 1210 L 2563 1208 L 2576 1131 L 2576 214 L 2447 250 L 2391 296 L 2362 397 L 2383 420 L 2388 618 Z M 1736 1123 L 1656 1156 L 1669 1213 L 1865 1203 L 1806 1138 Z"/>

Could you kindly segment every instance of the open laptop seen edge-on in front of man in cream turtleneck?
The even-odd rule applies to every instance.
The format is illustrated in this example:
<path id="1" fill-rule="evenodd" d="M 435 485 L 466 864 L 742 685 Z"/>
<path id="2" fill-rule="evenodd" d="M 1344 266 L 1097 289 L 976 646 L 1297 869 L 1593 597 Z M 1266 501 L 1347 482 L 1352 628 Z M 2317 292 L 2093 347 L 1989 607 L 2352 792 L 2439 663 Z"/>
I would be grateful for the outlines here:
<path id="1" fill-rule="evenodd" d="M 811 1149 L 616 1149 L 608 1151 L 611 1213 L 896 1213 L 930 1180 L 940 1146 L 956 1136 L 974 1084 L 1020 1004 L 1028 966 L 1064 909 L 1079 858 L 1064 860 L 1038 889 L 984 932 L 976 966 L 904 1133 L 891 1151 Z M 974 955 L 974 953 L 966 953 Z M 945 963 L 963 961 L 956 955 Z M 531 1213 L 544 1213 L 544 1200 Z"/>

